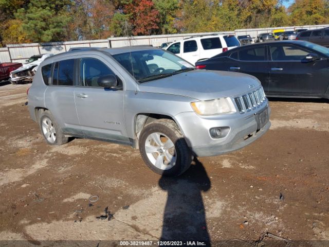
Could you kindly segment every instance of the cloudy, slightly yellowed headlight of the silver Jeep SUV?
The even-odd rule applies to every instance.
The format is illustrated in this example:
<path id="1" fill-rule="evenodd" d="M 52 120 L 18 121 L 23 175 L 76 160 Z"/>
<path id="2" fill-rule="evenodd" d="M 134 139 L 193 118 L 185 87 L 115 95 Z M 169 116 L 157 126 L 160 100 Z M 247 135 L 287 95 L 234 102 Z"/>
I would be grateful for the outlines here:
<path id="1" fill-rule="evenodd" d="M 205 116 L 236 112 L 230 98 L 191 102 L 191 107 L 197 114 Z"/>

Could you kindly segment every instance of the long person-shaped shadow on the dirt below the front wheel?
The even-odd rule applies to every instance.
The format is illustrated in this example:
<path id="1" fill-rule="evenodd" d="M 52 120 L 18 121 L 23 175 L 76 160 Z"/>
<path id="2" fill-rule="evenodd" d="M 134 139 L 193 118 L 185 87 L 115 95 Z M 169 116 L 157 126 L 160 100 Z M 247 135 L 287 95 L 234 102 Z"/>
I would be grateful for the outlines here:
<path id="1" fill-rule="evenodd" d="M 159 186 L 168 191 L 160 241 L 202 241 L 210 246 L 202 191 L 208 191 L 211 182 L 203 164 L 194 158 L 187 172 L 178 178 L 162 176 Z"/>

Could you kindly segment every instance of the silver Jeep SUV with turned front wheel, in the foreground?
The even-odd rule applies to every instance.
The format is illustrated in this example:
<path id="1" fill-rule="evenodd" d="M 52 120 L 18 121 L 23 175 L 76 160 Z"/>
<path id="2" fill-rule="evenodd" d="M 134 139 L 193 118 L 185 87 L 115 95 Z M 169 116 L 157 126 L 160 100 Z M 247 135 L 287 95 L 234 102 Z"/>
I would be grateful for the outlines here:
<path id="1" fill-rule="evenodd" d="M 153 171 L 171 176 L 185 172 L 193 155 L 243 148 L 270 127 L 268 101 L 255 77 L 197 70 L 150 46 L 49 57 L 28 102 L 48 144 L 76 136 L 131 145 Z"/>

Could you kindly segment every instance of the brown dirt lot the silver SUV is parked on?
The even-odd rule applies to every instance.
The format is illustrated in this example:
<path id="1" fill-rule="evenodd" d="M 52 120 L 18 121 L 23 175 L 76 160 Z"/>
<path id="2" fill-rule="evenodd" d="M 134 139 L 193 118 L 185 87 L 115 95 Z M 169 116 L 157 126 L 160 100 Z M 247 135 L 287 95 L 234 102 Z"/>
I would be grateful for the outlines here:
<path id="1" fill-rule="evenodd" d="M 183 237 L 268 246 L 277 239 L 271 233 L 293 240 L 289 246 L 329 245 L 310 241 L 329 240 L 329 101 L 271 100 L 272 127 L 261 139 L 198 158 L 168 179 L 131 147 L 86 139 L 47 145 L 29 118 L 28 86 L 0 87 L 0 240 Z"/>

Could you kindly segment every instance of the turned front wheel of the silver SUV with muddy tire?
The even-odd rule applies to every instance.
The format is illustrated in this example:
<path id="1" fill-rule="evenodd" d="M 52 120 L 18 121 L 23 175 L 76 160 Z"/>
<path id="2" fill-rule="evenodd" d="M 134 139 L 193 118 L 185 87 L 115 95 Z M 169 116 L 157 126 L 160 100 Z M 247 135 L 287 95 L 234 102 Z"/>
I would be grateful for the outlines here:
<path id="1" fill-rule="evenodd" d="M 173 120 L 149 123 L 141 131 L 138 144 L 145 164 L 158 174 L 178 177 L 191 166 L 190 148 Z"/>

